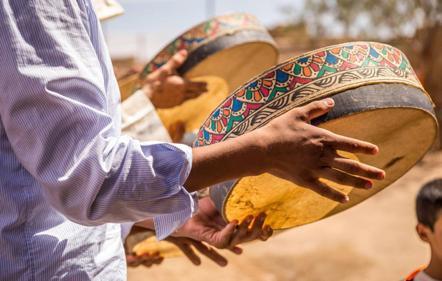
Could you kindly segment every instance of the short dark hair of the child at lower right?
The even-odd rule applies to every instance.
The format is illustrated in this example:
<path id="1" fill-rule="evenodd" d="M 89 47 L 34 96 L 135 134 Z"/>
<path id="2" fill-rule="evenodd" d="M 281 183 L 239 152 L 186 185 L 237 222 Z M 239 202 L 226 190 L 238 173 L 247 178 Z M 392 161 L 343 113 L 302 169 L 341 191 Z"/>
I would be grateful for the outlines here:
<path id="1" fill-rule="evenodd" d="M 416 214 L 418 222 L 434 231 L 434 222 L 442 209 L 442 178 L 426 183 L 416 197 Z"/>

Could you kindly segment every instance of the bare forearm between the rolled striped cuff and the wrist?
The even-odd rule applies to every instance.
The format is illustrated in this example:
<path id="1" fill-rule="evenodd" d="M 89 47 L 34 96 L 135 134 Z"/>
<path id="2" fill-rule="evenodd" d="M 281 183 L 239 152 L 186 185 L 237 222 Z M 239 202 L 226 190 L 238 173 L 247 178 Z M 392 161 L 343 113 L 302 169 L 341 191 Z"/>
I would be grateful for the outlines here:
<path id="1" fill-rule="evenodd" d="M 184 183 L 186 190 L 193 192 L 227 180 L 264 173 L 267 147 L 261 134 L 256 130 L 229 141 L 194 148 L 191 173 Z"/>

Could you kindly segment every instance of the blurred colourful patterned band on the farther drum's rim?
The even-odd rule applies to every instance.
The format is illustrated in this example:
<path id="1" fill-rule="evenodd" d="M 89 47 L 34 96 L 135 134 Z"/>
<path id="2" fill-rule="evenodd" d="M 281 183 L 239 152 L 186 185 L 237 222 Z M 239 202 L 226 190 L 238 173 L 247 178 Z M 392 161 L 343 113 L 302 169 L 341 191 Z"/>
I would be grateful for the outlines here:
<path id="1" fill-rule="evenodd" d="M 164 65 L 164 63 L 169 61 L 179 50 L 185 49 L 188 52 L 192 52 L 202 43 L 206 43 L 222 34 L 235 32 L 239 29 L 258 29 L 267 32 L 256 17 L 244 12 L 225 14 L 209 19 L 209 21 L 196 25 L 194 28 L 191 28 L 191 30 L 184 32 L 184 34 L 161 50 L 153 60 L 144 67 L 144 70 L 140 74 L 140 79 L 138 79 L 133 86 L 133 92 L 140 89 L 143 79 L 145 79 L 148 74 Z"/>

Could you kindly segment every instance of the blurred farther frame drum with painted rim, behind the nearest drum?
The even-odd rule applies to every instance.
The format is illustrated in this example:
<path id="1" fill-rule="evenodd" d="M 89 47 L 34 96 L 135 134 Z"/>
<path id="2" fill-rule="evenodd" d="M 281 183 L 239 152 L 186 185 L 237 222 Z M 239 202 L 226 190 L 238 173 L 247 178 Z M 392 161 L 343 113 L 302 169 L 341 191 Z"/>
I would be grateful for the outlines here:
<path id="1" fill-rule="evenodd" d="M 122 101 L 142 87 L 148 74 L 182 49 L 187 50 L 189 56 L 177 74 L 191 81 L 206 82 L 208 91 L 157 112 L 164 127 L 182 122 L 186 132 L 198 130 L 206 116 L 233 90 L 278 60 L 276 43 L 255 17 L 244 12 L 225 14 L 184 32 L 160 51 L 140 76 L 120 81 Z"/>

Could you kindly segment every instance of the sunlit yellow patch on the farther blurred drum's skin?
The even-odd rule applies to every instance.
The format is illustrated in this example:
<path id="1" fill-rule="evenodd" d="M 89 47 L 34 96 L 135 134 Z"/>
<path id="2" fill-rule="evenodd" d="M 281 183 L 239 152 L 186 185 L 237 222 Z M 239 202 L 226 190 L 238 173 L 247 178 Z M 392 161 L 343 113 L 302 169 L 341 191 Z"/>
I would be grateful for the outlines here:
<path id="1" fill-rule="evenodd" d="M 169 128 L 170 125 L 181 121 L 186 127 L 186 132 L 199 129 L 206 117 L 229 95 L 229 87 L 221 77 L 200 76 L 190 79 L 190 81 L 206 82 L 207 92 L 198 98 L 185 101 L 181 105 L 158 109 L 157 113 L 164 127 Z"/>

